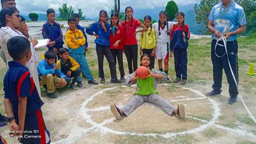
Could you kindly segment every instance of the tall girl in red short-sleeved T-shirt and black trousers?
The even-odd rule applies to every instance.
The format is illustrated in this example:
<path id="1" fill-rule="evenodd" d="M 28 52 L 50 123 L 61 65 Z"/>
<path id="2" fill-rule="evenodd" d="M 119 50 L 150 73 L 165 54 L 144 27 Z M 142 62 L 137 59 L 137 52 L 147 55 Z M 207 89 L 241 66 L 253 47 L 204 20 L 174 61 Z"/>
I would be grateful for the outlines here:
<path id="1" fill-rule="evenodd" d="M 132 74 L 138 68 L 138 42 L 136 34 L 147 31 L 148 28 L 140 22 L 140 20 L 133 18 L 133 9 L 128 6 L 125 8 L 125 20 L 122 22 L 124 28 L 124 52 L 128 62 L 129 73 Z M 143 29 L 136 30 L 137 27 Z M 133 66 L 133 68 L 132 68 Z"/>

